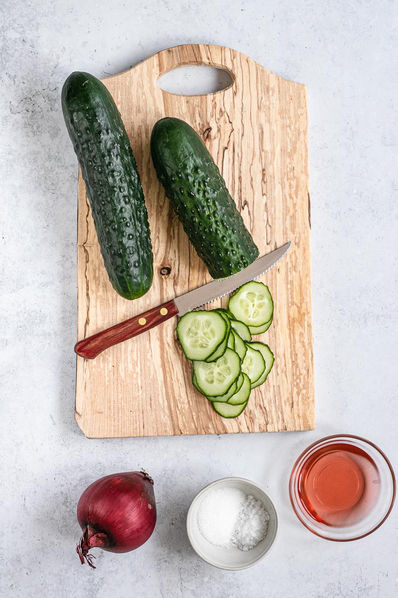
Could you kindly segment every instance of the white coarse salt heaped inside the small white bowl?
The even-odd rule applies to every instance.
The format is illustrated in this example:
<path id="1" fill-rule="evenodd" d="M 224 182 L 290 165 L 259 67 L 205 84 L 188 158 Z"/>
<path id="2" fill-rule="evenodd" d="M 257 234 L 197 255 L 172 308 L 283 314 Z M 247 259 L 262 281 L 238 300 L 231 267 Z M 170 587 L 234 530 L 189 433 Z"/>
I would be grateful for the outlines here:
<path id="1" fill-rule="evenodd" d="M 200 533 L 219 548 L 251 550 L 266 537 L 269 520 L 261 501 L 232 486 L 211 490 L 198 510 Z"/>

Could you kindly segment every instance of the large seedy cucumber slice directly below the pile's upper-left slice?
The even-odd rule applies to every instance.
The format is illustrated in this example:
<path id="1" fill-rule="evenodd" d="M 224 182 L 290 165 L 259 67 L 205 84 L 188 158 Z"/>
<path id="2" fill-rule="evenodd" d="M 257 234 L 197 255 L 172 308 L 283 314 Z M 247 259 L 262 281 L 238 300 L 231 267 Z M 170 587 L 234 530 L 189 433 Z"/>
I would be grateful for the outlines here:
<path id="1" fill-rule="evenodd" d="M 224 395 L 240 376 L 240 358 L 232 349 L 226 349 L 224 355 L 211 363 L 194 361 L 193 371 L 198 388 L 203 395 Z"/>

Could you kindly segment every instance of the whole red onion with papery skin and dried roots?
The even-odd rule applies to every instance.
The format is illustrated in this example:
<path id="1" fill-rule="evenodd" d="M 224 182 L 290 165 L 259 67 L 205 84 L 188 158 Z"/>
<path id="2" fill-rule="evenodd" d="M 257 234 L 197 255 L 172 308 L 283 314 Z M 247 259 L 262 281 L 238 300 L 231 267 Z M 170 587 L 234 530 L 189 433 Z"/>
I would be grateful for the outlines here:
<path id="1" fill-rule="evenodd" d="M 78 504 L 83 535 L 76 548 L 82 565 L 95 558 L 88 551 L 99 547 L 110 553 L 128 553 L 152 535 L 156 523 L 153 480 L 144 469 L 106 475 L 85 489 Z"/>

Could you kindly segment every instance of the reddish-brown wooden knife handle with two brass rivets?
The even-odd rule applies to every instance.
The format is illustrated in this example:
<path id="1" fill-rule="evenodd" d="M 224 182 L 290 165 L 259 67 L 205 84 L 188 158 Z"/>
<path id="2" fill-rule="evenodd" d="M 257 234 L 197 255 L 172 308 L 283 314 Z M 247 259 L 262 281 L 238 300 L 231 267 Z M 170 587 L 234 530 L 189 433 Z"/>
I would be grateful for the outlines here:
<path id="1" fill-rule="evenodd" d="M 108 349 L 114 344 L 122 343 L 128 338 L 141 334 L 141 332 L 155 328 L 155 326 L 162 324 L 162 322 L 172 318 L 177 313 L 178 309 L 174 301 L 168 301 L 158 307 L 149 309 L 147 312 L 140 313 L 134 318 L 130 318 L 125 322 L 116 324 L 79 341 L 75 344 L 75 352 L 81 357 L 94 359 L 104 349 Z"/>

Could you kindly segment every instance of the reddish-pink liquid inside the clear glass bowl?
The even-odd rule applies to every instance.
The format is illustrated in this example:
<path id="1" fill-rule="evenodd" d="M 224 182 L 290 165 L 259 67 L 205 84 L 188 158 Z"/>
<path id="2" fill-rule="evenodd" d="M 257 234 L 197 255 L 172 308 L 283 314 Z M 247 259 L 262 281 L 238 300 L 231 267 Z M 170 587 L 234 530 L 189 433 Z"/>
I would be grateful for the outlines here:
<path id="1" fill-rule="evenodd" d="M 303 463 L 298 498 L 319 523 L 345 527 L 366 517 L 380 487 L 374 460 L 359 447 L 339 442 L 321 447 Z"/>

